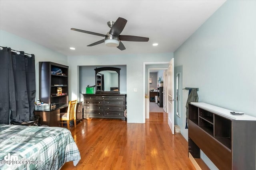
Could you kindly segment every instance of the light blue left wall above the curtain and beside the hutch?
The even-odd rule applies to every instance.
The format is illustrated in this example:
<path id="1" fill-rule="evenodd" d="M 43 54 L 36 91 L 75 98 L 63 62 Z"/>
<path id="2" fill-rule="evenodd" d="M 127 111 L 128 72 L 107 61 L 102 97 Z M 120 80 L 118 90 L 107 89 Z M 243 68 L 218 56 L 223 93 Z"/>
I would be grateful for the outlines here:
<path id="1" fill-rule="evenodd" d="M 51 61 L 64 65 L 68 64 L 68 57 L 66 55 L 62 55 L 42 45 L 3 30 L 0 30 L 0 46 L 10 47 L 14 50 L 24 51 L 25 53 L 35 55 L 36 100 L 39 98 L 39 61 Z"/>

